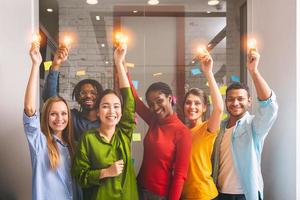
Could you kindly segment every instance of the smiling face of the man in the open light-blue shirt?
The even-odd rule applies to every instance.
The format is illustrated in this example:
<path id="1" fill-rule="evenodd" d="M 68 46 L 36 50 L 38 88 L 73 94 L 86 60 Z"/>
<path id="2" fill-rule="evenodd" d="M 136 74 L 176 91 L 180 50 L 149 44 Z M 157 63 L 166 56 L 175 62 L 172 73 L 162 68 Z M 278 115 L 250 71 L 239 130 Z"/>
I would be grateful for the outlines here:
<path id="1" fill-rule="evenodd" d="M 225 103 L 230 117 L 240 119 L 251 106 L 251 98 L 245 89 L 232 89 L 227 92 Z"/>

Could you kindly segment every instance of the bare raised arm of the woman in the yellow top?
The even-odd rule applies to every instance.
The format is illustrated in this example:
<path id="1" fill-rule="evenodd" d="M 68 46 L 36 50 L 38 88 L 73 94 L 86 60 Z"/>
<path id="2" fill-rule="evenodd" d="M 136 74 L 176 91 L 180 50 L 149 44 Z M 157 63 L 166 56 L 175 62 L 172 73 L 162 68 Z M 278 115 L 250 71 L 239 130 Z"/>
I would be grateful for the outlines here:
<path id="1" fill-rule="evenodd" d="M 219 91 L 216 79 L 212 72 L 213 59 L 207 50 L 204 50 L 203 54 L 199 56 L 201 63 L 201 70 L 207 78 L 209 85 L 209 92 L 211 95 L 213 110 L 208 120 L 208 131 L 216 132 L 221 123 L 221 116 L 223 113 L 224 105 L 221 93 Z"/>

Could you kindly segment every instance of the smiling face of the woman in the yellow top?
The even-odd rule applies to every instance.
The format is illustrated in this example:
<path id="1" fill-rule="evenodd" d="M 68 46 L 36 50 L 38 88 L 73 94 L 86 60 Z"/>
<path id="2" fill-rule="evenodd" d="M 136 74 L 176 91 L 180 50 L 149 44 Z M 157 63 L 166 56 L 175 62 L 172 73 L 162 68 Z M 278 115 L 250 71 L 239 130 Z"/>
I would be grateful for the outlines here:
<path id="1" fill-rule="evenodd" d="M 206 106 L 199 96 L 189 94 L 185 99 L 183 111 L 185 117 L 192 124 L 196 124 L 197 121 L 202 121 L 202 116 L 206 111 Z"/>

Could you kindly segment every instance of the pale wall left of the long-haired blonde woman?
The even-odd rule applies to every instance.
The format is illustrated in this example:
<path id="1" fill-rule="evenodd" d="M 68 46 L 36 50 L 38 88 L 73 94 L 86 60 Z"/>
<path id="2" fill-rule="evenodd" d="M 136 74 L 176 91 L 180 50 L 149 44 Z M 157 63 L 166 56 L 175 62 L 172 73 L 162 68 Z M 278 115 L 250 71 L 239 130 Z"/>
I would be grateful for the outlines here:
<path id="1" fill-rule="evenodd" d="M 31 165 L 23 133 L 23 96 L 30 70 L 37 0 L 2 0 L 0 7 L 0 199 L 31 199 Z M 33 14 L 33 7 L 36 13 Z"/>

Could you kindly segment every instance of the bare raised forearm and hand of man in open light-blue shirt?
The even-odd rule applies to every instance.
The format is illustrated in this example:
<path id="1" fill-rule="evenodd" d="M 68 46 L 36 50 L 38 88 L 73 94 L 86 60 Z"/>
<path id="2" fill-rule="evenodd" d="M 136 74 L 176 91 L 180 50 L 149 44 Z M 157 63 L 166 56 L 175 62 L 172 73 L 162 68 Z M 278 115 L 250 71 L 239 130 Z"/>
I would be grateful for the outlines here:
<path id="1" fill-rule="evenodd" d="M 270 98 L 271 89 L 257 69 L 259 58 L 260 55 L 257 50 L 250 49 L 248 52 L 247 68 L 253 80 L 258 99 L 264 101 Z"/>

